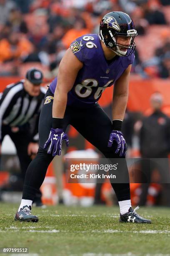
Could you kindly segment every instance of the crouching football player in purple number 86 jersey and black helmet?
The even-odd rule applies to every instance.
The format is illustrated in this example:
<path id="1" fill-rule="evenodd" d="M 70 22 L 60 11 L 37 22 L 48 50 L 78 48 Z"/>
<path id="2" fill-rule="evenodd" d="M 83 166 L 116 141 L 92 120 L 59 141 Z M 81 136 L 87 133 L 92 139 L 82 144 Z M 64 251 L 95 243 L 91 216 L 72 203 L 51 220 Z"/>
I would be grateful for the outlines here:
<path id="1" fill-rule="evenodd" d="M 127 150 L 121 132 L 128 101 L 130 69 L 137 36 L 133 20 L 123 12 L 107 13 L 100 21 L 99 34 L 77 38 L 67 49 L 58 77 L 50 84 L 40 114 L 40 145 L 28 167 L 15 220 L 37 222 L 32 215 L 32 199 L 44 181 L 47 167 L 61 154 L 68 124 L 98 148 L 108 159 L 124 158 Z M 97 101 L 114 84 L 112 121 Z M 128 174 L 127 165 L 125 170 Z M 120 205 L 120 222 L 151 223 L 133 210 L 128 183 L 112 183 Z"/>

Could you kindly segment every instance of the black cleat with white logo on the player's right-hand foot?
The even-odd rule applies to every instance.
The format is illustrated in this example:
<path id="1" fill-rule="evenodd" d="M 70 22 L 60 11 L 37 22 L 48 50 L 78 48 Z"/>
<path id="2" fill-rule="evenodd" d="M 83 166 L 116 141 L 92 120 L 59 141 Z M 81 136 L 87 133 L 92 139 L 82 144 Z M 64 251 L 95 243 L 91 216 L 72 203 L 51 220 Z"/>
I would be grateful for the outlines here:
<path id="1" fill-rule="evenodd" d="M 135 210 L 138 210 L 137 206 L 134 210 L 132 207 L 129 208 L 129 211 L 125 214 L 120 214 L 119 222 L 131 222 L 131 223 L 152 223 L 151 220 L 141 217 Z"/>

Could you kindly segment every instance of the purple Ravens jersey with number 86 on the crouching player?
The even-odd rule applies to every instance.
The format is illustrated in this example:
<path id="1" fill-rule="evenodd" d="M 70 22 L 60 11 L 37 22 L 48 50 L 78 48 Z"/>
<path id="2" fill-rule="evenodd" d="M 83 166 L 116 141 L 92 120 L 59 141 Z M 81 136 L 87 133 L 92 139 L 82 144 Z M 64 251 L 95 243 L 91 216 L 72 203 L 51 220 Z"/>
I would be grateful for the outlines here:
<path id="1" fill-rule="evenodd" d="M 113 61 L 108 63 L 97 34 L 87 34 L 77 38 L 70 45 L 70 49 L 77 59 L 82 61 L 83 67 L 68 93 L 67 105 L 97 102 L 102 92 L 114 84 L 134 60 L 134 54 L 131 54 L 115 56 Z M 56 86 L 57 78 L 50 84 L 52 93 L 55 92 Z"/>

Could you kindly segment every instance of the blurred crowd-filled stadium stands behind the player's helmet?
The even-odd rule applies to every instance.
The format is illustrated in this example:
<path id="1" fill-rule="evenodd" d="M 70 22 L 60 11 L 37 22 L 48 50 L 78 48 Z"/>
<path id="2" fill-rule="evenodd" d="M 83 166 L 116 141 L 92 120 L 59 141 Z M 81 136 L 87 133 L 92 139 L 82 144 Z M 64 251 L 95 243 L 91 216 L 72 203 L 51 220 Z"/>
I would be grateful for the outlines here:
<path id="1" fill-rule="evenodd" d="M 112 10 L 127 11 L 136 20 L 137 27 L 139 25 L 140 28 L 144 26 L 142 34 L 139 33 L 139 36 L 135 38 L 140 64 L 138 64 L 137 69 L 134 67 L 133 72 L 141 74 L 143 73 L 141 72 L 142 69 L 149 77 L 161 76 L 159 74 L 160 66 L 162 65 L 161 61 L 160 63 L 149 65 L 147 63 L 147 69 L 145 70 L 145 61 L 153 59 L 156 55 L 155 50 L 163 46 L 165 38 L 170 38 L 170 5 L 163 6 L 160 0 L 133 1 L 133 5 L 130 0 L 126 1 L 126 5 L 122 5 L 123 2 L 121 0 L 107 1 L 107 5 L 106 1 L 103 0 L 81 1 L 79 4 L 76 1 L 66 0 L 34 0 L 30 1 L 30 4 L 25 4 L 23 1 L 20 5 L 18 5 L 17 0 L 10 0 L 8 5 L 6 1 L 4 3 L 5 6 L 0 8 L 0 12 L 5 10 L 8 15 L 0 20 L 0 32 L 2 32 L 0 45 L 3 46 L 4 42 L 8 41 L 11 33 L 17 32 L 18 38 L 20 38 L 19 44 L 21 44 L 22 38 L 25 38 L 27 48 L 30 47 L 28 47 L 28 44 L 32 44 L 34 47 L 28 50 L 31 56 L 27 56 L 28 53 L 25 52 L 24 54 L 15 54 L 13 56 L 9 54 L 8 57 L 4 57 L 7 52 L 1 50 L 0 61 L 5 63 L 6 67 L 4 68 L 4 65 L 0 65 L 0 75 L 2 76 L 5 74 L 8 76 L 23 76 L 23 67 L 21 67 L 23 62 L 39 61 L 44 65 L 43 69 L 45 71 L 50 69 L 50 77 L 52 78 L 56 74 L 53 69 L 58 66 L 60 61 L 60 59 L 58 61 L 58 55 L 51 54 L 50 51 L 52 38 L 55 38 L 55 27 L 60 26 L 63 29 L 62 36 L 57 38 L 56 44 L 53 43 L 52 51 L 56 51 L 59 54 L 63 48 L 67 49 L 69 47 L 72 38 L 84 33 L 98 33 L 98 27 L 96 27 L 98 20 L 100 20 L 103 13 Z M 131 9 L 129 8 L 130 6 Z M 165 25 L 153 24 L 155 12 L 158 10 L 164 15 Z M 152 16 L 153 25 L 149 25 L 150 18 L 148 18 L 148 15 Z M 158 20 L 155 20 L 155 22 L 158 23 Z M 146 24 L 148 25 L 146 26 Z M 62 49 L 60 47 L 61 44 Z M 41 54 L 45 53 L 43 58 L 40 57 L 40 52 Z M 45 66 L 48 66 L 48 68 Z"/>

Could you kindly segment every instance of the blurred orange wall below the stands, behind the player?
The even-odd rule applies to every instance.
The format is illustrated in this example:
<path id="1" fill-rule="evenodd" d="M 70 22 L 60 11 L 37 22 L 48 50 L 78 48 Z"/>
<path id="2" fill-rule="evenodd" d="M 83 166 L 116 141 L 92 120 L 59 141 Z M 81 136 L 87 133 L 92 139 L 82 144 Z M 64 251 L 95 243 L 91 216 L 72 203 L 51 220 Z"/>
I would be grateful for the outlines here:
<path id="1" fill-rule="evenodd" d="M 7 84 L 17 82 L 20 77 L 0 77 L 0 92 Z M 102 107 L 107 107 L 112 101 L 113 87 L 107 88 L 99 100 Z M 131 111 L 145 112 L 150 108 L 150 95 L 153 92 L 161 92 L 164 98 L 164 106 L 170 113 L 170 79 L 133 79 L 130 80 L 128 108 Z"/>

